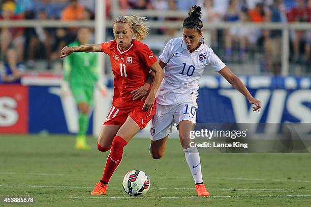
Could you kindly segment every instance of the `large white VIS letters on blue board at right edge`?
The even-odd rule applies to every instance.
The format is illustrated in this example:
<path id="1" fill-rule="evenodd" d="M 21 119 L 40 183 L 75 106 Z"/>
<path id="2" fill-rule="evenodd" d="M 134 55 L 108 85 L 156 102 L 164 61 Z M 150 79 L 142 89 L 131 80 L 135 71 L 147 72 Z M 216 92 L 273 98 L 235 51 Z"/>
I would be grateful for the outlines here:
<path id="1" fill-rule="evenodd" d="M 309 89 L 293 92 L 286 89 L 258 89 L 254 97 L 261 101 L 260 113 L 254 113 L 252 107 L 247 107 L 245 97 L 235 89 L 220 89 L 219 94 L 230 99 L 238 123 L 282 123 L 288 114 L 296 118 L 297 122 L 311 122 L 311 109 L 306 104 L 311 103 Z M 285 110 L 288 114 L 285 114 Z M 267 115 L 263 117 L 265 112 Z"/>

